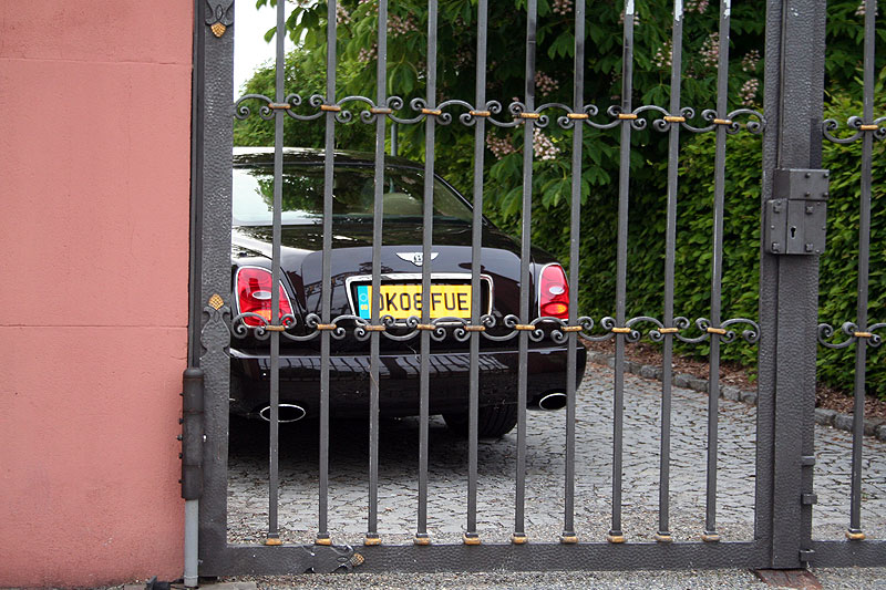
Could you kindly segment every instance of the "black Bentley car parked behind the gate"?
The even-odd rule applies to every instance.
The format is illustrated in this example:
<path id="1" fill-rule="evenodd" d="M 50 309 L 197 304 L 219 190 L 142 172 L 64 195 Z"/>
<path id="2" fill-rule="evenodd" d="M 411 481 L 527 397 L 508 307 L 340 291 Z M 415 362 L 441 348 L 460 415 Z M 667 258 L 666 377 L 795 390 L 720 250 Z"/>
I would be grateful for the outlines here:
<path id="1" fill-rule="evenodd" d="M 288 333 L 312 333 L 308 314 L 320 314 L 322 277 L 323 153 L 287 148 L 282 174 L 280 311 L 292 314 Z M 370 320 L 373 155 L 337 152 L 332 206 L 331 318 L 348 335 L 331 340 L 330 414 L 365 416 L 369 412 L 369 342 L 353 338 L 360 321 Z M 390 314 L 391 334 L 414 333 L 409 317 L 420 317 L 422 265 L 423 166 L 385 158 L 383 240 L 381 248 L 380 315 Z M 471 204 L 442 178 L 434 183 L 432 318 L 471 317 Z M 234 154 L 231 281 L 236 314 L 245 338 L 231 342 L 231 413 L 269 416 L 270 355 L 267 339 L 256 328 L 271 317 L 271 211 L 274 152 L 237 148 Z M 507 335 L 507 315 L 519 313 L 519 242 L 484 219 L 481 288 L 483 314 L 495 325 L 487 334 Z M 566 319 L 569 289 L 566 275 L 549 255 L 533 250 L 530 292 L 533 318 Z M 246 315 L 241 315 L 246 314 Z M 359 320 L 358 320 L 359 319 Z M 468 406 L 470 344 L 457 339 L 457 322 L 440 322 L 446 337 L 432 340 L 430 411 L 450 427 L 464 432 Z M 513 320 L 512 320 L 513 323 Z M 542 322 L 549 332 L 556 322 Z M 236 325 L 235 325 L 236 328 Z M 261 330 L 258 330 L 259 334 Z M 418 415 L 420 338 L 394 340 L 381 334 L 380 412 L 388 416 Z M 498 436 L 517 420 L 517 338 L 493 340 L 481 334 L 480 436 Z M 585 369 L 579 345 L 577 375 Z M 563 407 L 566 391 L 566 344 L 552 338 L 530 342 L 528 390 L 530 407 Z M 280 338 L 280 420 L 319 414 L 320 339 Z"/>

